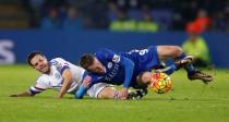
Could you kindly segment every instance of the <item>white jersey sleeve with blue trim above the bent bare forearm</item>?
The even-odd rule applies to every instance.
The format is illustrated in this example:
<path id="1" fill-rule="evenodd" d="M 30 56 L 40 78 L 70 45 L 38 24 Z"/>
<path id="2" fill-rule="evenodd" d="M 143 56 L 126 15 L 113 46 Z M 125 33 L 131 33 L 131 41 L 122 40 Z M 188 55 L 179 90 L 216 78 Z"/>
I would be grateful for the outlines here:
<path id="1" fill-rule="evenodd" d="M 65 61 L 64 59 L 61 59 L 61 58 L 52 59 L 50 61 L 50 64 L 55 65 L 57 68 L 57 70 L 60 72 L 61 75 L 62 75 L 64 70 L 70 69 L 69 62 Z"/>

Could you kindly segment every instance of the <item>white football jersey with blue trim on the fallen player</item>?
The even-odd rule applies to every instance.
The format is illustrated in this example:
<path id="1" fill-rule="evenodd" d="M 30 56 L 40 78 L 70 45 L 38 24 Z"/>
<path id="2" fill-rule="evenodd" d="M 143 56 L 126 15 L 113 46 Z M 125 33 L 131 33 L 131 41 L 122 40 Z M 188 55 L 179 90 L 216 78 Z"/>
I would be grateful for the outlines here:
<path id="1" fill-rule="evenodd" d="M 73 74 L 72 84 L 67 93 L 73 94 L 80 87 L 85 70 L 61 58 L 55 58 L 50 61 L 50 74 L 40 74 L 29 91 L 35 95 L 46 89 L 60 90 L 63 83 L 62 73 L 65 69 L 70 69 Z"/>

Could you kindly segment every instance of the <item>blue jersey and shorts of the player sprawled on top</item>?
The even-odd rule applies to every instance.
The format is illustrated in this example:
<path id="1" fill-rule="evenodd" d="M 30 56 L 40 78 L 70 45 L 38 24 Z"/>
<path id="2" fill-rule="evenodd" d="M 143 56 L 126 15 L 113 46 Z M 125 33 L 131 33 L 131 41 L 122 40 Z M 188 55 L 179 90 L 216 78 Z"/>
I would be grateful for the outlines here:
<path id="1" fill-rule="evenodd" d="M 95 53 L 95 57 L 105 65 L 105 74 L 89 73 L 93 83 L 105 82 L 114 85 L 137 87 L 136 77 L 144 71 L 150 71 L 159 64 L 156 47 L 148 47 L 143 50 L 130 52 L 114 52 L 103 48 Z M 133 70 L 126 71 L 126 65 L 133 64 Z M 129 66 L 130 68 L 130 66 Z M 125 80 L 131 76 L 130 80 Z M 128 83 L 128 81 L 130 83 Z"/>

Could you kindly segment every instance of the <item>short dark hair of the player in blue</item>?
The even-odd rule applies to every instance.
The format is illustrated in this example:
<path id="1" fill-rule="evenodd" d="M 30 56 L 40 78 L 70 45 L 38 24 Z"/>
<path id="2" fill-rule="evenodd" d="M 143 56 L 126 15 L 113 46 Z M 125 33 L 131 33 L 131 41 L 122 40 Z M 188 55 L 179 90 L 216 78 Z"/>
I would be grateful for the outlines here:
<path id="1" fill-rule="evenodd" d="M 95 56 L 92 53 L 84 53 L 80 59 L 80 65 L 84 69 L 87 69 L 93 64 Z"/>

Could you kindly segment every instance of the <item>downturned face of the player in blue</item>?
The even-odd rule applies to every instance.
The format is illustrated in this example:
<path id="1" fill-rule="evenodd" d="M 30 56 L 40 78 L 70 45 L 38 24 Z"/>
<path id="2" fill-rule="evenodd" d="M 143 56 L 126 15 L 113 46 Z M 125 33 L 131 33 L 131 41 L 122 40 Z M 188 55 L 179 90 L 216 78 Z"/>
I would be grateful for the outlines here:
<path id="1" fill-rule="evenodd" d="M 106 69 L 104 66 L 104 64 L 101 64 L 100 61 L 98 61 L 97 58 L 94 58 L 94 62 L 92 65 L 89 65 L 87 68 L 88 71 L 94 72 L 94 73 L 98 73 L 98 74 L 104 74 Z"/>

